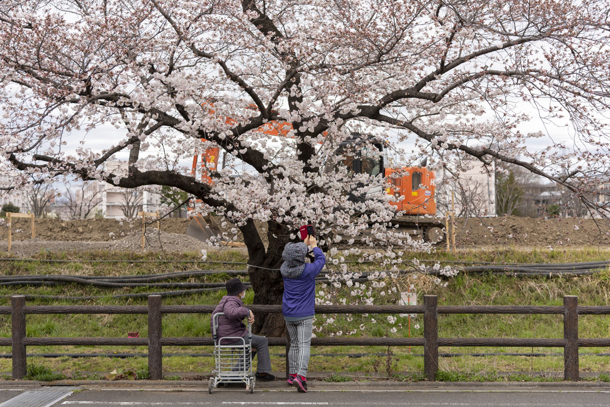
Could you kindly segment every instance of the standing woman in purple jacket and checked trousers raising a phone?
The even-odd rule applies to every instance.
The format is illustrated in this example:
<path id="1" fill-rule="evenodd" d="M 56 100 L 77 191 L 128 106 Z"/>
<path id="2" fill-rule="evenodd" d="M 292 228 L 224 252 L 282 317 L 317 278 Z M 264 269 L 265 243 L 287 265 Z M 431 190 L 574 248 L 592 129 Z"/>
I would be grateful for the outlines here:
<path id="1" fill-rule="evenodd" d="M 288 384 L 294 384 L 301 393 L 307 392 L 307 366 L 314 322 L 315 277 L 326 264 L 326 257 L 317 246 L 314 236 L 307 236 L 304 242 L 288 243 L 284 247 L 280 267 L 284 278 L 282 314 L 290 335 L 288 353 Z M 305 263 L 307 246 L 314 251 L 314 263 Z"/>

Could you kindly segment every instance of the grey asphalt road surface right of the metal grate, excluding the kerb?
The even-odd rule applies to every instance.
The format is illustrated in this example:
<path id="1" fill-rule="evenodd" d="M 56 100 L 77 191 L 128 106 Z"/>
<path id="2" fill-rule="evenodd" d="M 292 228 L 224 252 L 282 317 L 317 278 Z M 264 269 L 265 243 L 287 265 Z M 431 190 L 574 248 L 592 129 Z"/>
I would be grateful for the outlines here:
<path id="1" fill-rule="evenodd" d="M 523 407 L 607 407 L 610 394 L 598 392 L 308 392 L 260 391 L 245 394 L 237 391 L 207 392 L 156 392 L 85 390 L 73 394 L 54 406 L 154 406 L 154 407 L 205 407 L 205 406 L 523 406 Z"/>

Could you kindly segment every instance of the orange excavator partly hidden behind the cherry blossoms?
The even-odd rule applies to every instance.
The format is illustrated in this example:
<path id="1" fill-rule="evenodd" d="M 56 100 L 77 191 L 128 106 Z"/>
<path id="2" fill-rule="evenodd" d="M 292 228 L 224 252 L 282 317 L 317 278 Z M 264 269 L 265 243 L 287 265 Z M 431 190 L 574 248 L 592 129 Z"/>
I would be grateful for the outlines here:
<path id="1" fill-rule="evenodd" d="M 227 119 L 231 122 L 232 119 Z M 288 122 L 268 122 L 256 131 L 270 136 L 287 137 L 292 130 Z M 201 141 L 206 141 L 201 139 Z M 426 168 L 424 159 L 419 166 L 392 168 L 386 167 L 386 143 L 375 140 L 368 135 L 353 133 L 351 138 L 339 144 L 337 154 L 342 155 L 343 165 L 353 174 L 367 173 L 371 176 L 381 174 L 387 180 L 385 191 L 381 188 L 366 189 L 360 185 L 364 194 L 356 196 L 350 194 L 350 200 L 375 199 L 376 194 L 386 193 L 394 196 L 396 200 L 390 202 L 403 211 L 403 215 L 392 219 L 398 224 L 399 231 L 406 231 L 411 235 L 421 236 L 425 241 L 439 243 L 445 240 L 443 222 L 436 215 L 434 172 Z M 371 146 L 374 150 L 371 150 Z M 201 180 L 213 184 L 210 171 L 216 171 L 218 166 L 219 147 L 209 147 L 201 154 Z M 198 155 L 193 157 L 192 174 L 195 175 L 198 166 Z M 402 199 L 401 199 L 402 197 Z M 199 215 L 192 218 L 188 226 L 187 235 L 205 241 L 211 236 L 218 236 L 220 228 L 209 217 L 205 219 Z"/>

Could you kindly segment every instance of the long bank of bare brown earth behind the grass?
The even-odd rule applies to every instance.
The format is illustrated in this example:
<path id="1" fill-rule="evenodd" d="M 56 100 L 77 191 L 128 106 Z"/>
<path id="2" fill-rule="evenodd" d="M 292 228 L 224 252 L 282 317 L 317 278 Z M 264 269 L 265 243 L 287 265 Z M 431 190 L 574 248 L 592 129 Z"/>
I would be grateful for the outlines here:
<path id="1" fill-rule="evenodd" d="M 0 250 L 7 250 L 8 229 L 0 219 Z M 185 235 L 188 219 L 162 219 L 160 232 L 156 223 L 146 227 L 145 250 L 165 252 L 201 252 L 216 250 Z M 218 225 L 223 225 L 217 219 Z M 36 219 L 36 239 L 30 238 L 30 220 L 13 219 L 12 250 L 16 255 L 30 256 L 44 250 L 130 250 L 140 251 L 142 220 L 94 218 L 62 221 Z M 231 225 L 225 224 L 225 230 Z M 267 241 L 265 225 L 259 225 Z M 470 218 L 456 221 L 458 247 L 575 247 L 610 245 L 610 228 L 594 219 L 539 219 L 503 216 Z"/>

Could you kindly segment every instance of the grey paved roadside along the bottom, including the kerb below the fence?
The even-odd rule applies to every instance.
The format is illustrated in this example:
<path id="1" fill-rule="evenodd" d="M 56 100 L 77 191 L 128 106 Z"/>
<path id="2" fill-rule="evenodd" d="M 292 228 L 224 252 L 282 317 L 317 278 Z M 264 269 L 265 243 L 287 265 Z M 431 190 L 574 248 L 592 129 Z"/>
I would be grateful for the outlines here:
<path id="1" fill-rule="evenodd" d="M 76 383 L 74 383 L 76 384 Z M 206 407 L 206 406 L 384 406 L 384 407 L 601 407 L 610 405 L 608 383 L 311 383 L 310 392 L 301 394 L 281 383 L 260 386 L 249 394 L 244 389 L 217 389 L 207 392 L 204 383 L 93 384 L 77 387 L 76 392 L 54 403 L 53 407 Z M 22 391 L 57 389 L 25 382 L 0 387 L 2 402 Z M 74 389 L 74 388 L 68 388 Z M 10 400 L 9 400 L 10 402 Z M 15 403 L 13 403 L 15 405 Z M 49 405 L 47 405 L 49 406 Z M 43 407 L 43 406 L 32 406 Z M 49 406 L 50 407 L 50 406 Z"/>

